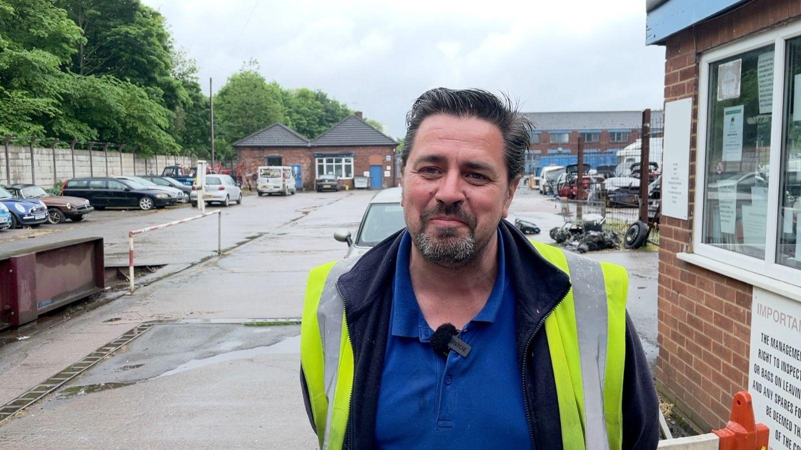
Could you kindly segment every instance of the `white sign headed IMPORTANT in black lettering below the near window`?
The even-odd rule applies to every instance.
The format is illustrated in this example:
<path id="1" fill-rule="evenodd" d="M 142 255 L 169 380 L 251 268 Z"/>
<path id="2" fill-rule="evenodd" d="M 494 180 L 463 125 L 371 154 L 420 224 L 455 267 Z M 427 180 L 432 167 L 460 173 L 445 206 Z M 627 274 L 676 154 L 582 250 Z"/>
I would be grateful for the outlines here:
<path id="1" fill-rule="evenodd" d="M 801 302 L 754 287 L 748 392 L 771 450 L 801 448 Z"/>

